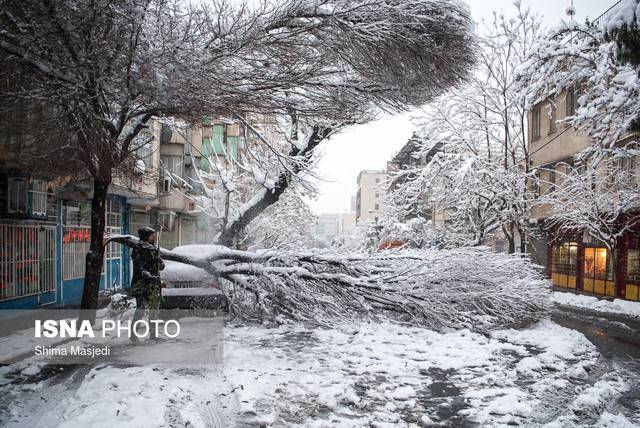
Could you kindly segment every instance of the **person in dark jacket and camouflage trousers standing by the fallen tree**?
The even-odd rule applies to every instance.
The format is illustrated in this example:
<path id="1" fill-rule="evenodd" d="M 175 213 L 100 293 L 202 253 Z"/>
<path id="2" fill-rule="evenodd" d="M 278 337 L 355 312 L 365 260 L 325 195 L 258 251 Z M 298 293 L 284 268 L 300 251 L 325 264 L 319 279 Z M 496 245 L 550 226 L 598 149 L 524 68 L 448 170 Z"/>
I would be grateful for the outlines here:
<path id="1" fill-rule="evenodd" d="M 160 271 L 164 269 L 159 250 L 155 246 L 156 231 L 151 227 L 143 227 L 138 230 L 138 236 L 140 241 L 131 253 L 133 276 L 130 294 L 136 298 L 132 324 L 141 320 L 145 313 L 148 313 L 150 320 L 156 318 L 162 297 Z M 131 339 L 136 341 L 137 337 L 132 335 Z"/>

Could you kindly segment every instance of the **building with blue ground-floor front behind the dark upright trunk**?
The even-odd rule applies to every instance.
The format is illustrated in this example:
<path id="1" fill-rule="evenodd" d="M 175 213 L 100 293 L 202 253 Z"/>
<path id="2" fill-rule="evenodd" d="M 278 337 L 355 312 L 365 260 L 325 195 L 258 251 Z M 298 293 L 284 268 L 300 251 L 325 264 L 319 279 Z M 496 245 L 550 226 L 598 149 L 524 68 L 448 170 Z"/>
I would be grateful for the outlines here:
<path id="1" fill-rule="evenodd" d="M 0 309 L 78 305 L 91 238 L 91 182 L 34 168 L 24 132 L 0 134 L 7 147 L 0 153 Z M 6 146 L 10 139 L 21 144 Z M 144 150 L 144 165 L 109 186 L 106 233 L 130 233 L 132 210 L 149 212 L 159 204 L 159 142 L 150 140 Z M 128 247 L 108 244 L 100 289 L 119 289 L 129 278 Z"/>

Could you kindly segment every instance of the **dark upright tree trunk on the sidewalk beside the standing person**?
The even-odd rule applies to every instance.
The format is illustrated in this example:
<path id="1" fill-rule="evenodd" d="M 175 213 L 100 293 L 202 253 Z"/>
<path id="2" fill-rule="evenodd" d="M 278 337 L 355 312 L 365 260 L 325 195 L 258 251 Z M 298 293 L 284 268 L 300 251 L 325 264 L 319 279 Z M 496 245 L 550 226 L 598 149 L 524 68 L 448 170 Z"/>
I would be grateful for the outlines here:
<path id="1" fill-rule="evenodd" d="M 84 288 L 80 308 L 87 311 L 83 319 L 95 320 L 104 257 L 107 193 L 111 177 L 94 179 L 91 198 L 91 244 L 86 256 Z"/>

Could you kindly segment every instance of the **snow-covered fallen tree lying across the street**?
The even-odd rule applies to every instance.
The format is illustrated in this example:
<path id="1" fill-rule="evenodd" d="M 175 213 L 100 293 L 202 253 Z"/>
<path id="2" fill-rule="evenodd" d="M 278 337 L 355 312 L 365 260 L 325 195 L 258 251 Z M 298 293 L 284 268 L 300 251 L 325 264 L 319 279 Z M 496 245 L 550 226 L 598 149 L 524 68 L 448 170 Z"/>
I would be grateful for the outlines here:
<path id="1" fill-rule="evenodd" d="M 392 318 L 437 330 L 487 331 L 525 326 L 546 311 L 546 281 L 537 268 L 481 248 L 346 255 L 190 245 L 162 249 L 161 256 L 219 279 L 232 315 L 244 321 L 333 325 Z"/>

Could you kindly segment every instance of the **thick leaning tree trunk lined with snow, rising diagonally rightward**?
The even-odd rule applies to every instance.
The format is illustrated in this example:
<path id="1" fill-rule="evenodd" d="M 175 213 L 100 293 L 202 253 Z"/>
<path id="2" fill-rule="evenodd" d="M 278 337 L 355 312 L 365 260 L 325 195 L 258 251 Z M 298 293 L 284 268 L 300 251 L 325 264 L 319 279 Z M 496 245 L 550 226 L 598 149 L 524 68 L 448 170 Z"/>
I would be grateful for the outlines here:
<path id="1" fill-rule="evenodd" d="M 331 132 L 332 130 L 330 128 L 314 127 L 308 138 L 307 145 L 303 149 L 295 146 L 292 147 L 289 156 L 302 157 L 305 161 L 310 161 L 313 149 L 320 144 L 322 140 L 331 135 Z M 243 206 L 240 210 L 240 215 L 220 233 L 218 244 L 232 247 L 238 236 L 251 221 L 258 217 L 265 209 L 278 202 L 280 196 L 282 196 L 284 191 L 289 187 L 293 174 L 302 171 L 303 165 L 301 164 L 302 162 L 295 163 L 290 169 L 281 173 L 273 189 L 264 189 L 260 198 L 254 199 Z"/>

